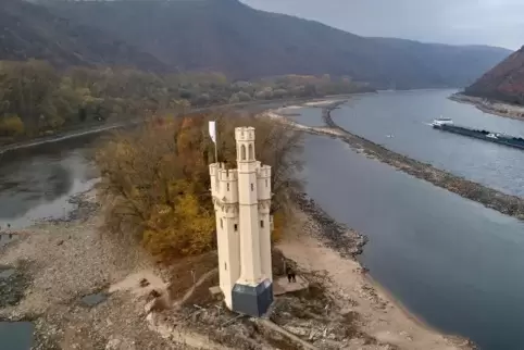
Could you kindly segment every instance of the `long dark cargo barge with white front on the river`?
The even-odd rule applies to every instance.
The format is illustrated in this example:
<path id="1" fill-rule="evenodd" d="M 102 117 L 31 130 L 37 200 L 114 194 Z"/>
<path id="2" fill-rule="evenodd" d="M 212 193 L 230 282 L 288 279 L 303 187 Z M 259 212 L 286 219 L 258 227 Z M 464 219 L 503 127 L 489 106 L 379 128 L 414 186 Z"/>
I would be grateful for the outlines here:
<path id="1" fill-rule="evenodd" d="M 522 137 L 514 137 L 499 133 L 473 129 L 465 126 L 458 126 L 453 124 L 452 120 L 445 117 L 433 121 L 431 125 L 439 130 L 464 135 L 467 137 L 473 137 L 481 140 L 524 150 L 524 139 Z"/>

